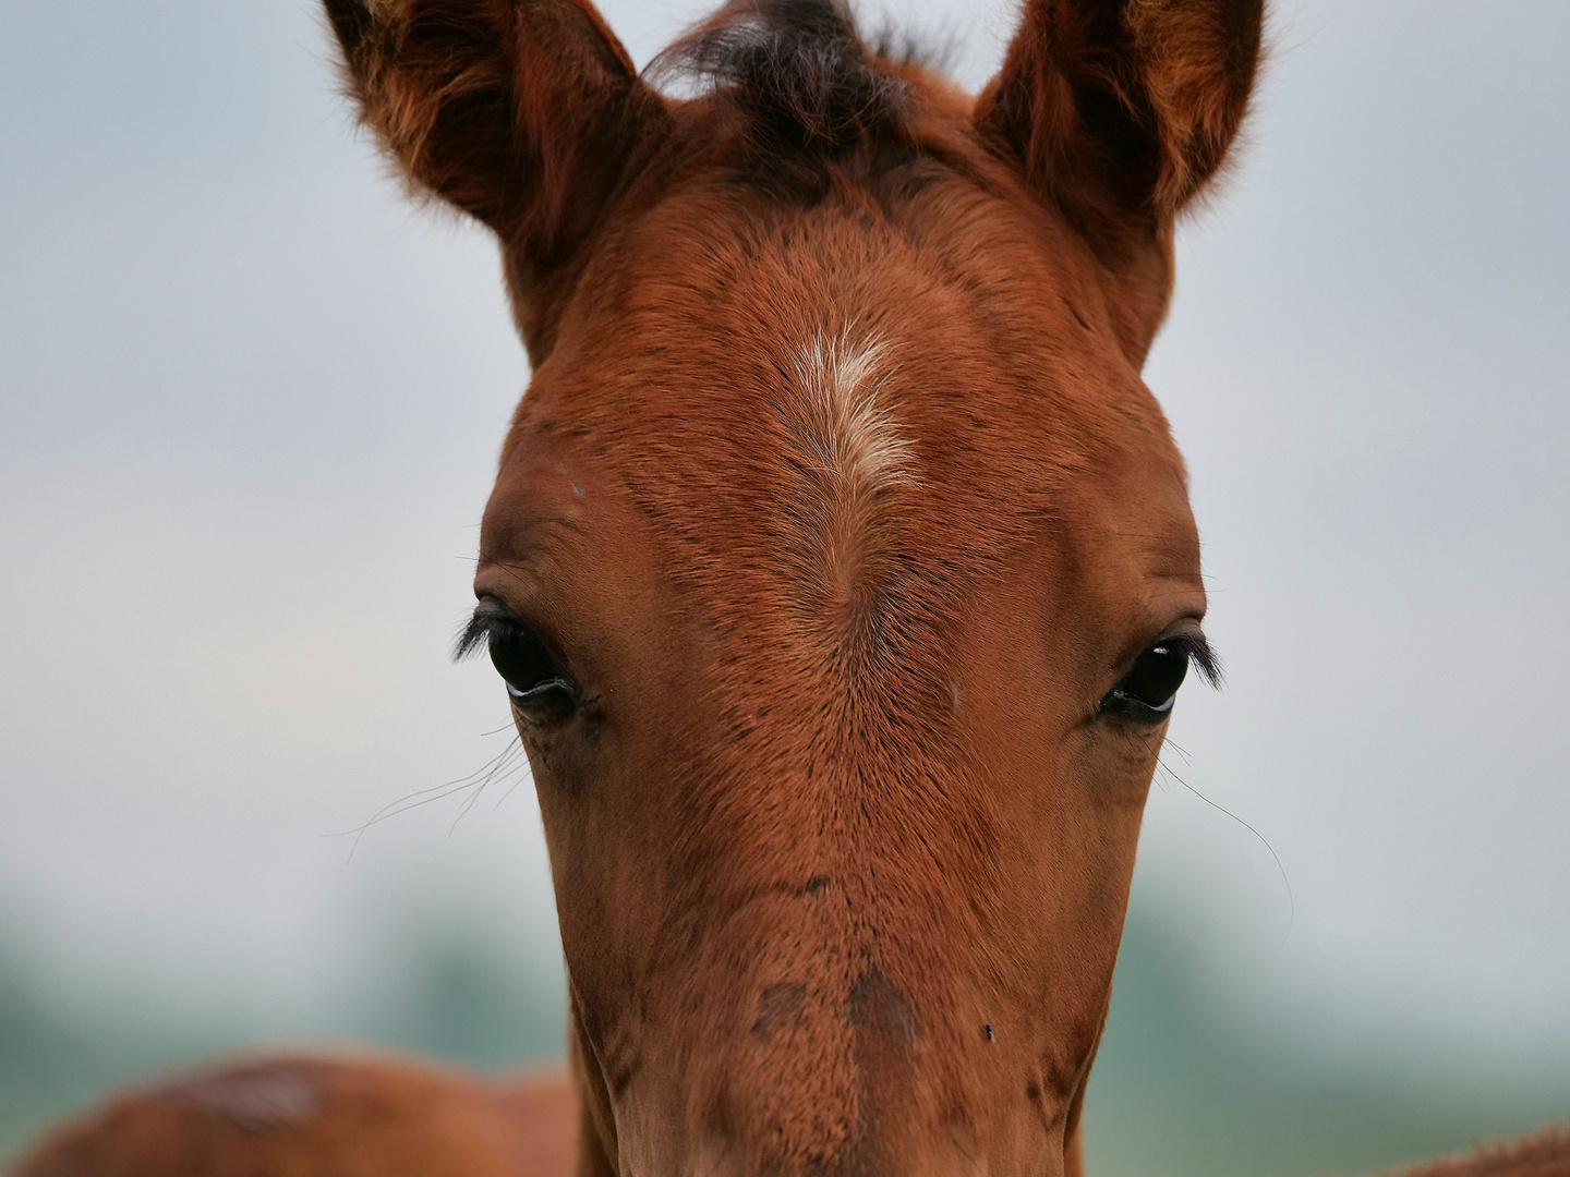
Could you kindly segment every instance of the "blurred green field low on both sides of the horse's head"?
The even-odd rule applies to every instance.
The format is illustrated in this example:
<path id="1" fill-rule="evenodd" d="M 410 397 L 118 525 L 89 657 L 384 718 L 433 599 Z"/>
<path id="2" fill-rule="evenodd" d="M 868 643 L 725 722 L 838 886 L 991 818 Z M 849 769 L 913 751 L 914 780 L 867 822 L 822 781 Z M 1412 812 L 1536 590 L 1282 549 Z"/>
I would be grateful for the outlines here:
<path id="1" fill-rule="evenodd" d="M 1570 1075 L 1523 1078 L 1413 1044 L 1325 1061 L 1245 1022 L 1214 970 L 1148 913 L 1130 916 L 1113 1015 L 1088 1099 L 1096 1177 L 1360 1174 L 1570 1116 Z M 75 990 L 74 990 L 75 992 Z M 50 1119 L 146 1070 L 253 1048 L 275 1033 L 146 995 L 68 997 L 0 943 L 0 1155 Z M 400 964 L 311 1037 L 377 1042 L 482 1067 L 560 1050 L 560 1009 L 495 945 L 411 929 Z M 301 1033 L 301 1037 L 305 1034 Z"/>

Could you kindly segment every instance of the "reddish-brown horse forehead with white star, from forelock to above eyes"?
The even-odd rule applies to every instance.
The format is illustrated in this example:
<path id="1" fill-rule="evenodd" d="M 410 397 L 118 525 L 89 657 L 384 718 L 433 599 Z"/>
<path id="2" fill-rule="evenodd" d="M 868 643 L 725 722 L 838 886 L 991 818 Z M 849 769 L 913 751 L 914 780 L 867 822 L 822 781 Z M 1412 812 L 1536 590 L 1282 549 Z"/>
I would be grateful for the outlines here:
<path id="1" fill-rule="evenodd" d="M 1182 501 L 1160 411 L 1069 303 L 1072 259 L 1010 248 L 1013 213 L 912 237 L 848 207 L 705 212 L 655 217 L 586 281 L 520 410 L 510 465 L 535 472 L 512 497 L 575 512 L 614 485 L 688 562 L 783 559 L 843 593 L 882 557 L 980 567 L 1047 518 L 1107 530 L 1119 494 L 1138 512 L 1124 468 L 1178 471 Z"/>

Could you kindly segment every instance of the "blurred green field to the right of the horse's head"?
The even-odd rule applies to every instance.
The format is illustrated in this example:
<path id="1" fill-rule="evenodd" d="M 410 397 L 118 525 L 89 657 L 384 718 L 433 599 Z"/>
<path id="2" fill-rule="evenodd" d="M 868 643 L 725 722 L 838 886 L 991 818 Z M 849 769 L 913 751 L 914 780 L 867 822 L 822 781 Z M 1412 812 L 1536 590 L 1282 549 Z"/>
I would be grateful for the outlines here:
<path id="1" fill-rule="evenodd" d="M 1512 1070 L 1399 1037 L 1356 1061 L 1261 1031 L 1237 992 L 1135 910 L 1086 1097 L 1096 1177 L 1367 1174 L 1570 1119 L 1570 1066 Z"/>

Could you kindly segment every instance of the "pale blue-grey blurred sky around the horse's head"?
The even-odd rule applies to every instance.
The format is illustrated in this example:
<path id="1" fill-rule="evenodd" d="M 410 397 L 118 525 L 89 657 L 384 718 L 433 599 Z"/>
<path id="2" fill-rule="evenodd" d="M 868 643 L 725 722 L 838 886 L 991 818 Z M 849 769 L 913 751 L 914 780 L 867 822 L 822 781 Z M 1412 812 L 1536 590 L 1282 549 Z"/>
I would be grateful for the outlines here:
<path id="1" fill-rule="evenodd" d="M 642 63 L 700 9 L 604 11 Z M 972 85 L 1013 19 L 889 11 Z M 1273 39 L 1146 374 L 1229 673 L 1135 898 L 1262 1028 L 1564 1073 L 1570 5 Z M 0 923 L 63 987 L 281 1028 L 394 916 L 557 968 L 526 780 L 328 836 L 507 745 L 446 656 L 528 369 L 327 56 L 305 0 L 0 3 Z"/>

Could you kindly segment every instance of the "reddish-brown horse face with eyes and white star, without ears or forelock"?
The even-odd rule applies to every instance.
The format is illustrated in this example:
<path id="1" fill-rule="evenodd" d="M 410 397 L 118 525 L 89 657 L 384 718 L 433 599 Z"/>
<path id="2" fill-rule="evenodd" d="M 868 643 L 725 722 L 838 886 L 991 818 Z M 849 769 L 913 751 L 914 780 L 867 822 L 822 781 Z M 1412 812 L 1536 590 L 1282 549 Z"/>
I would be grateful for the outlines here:
<path id="1" fill-rule="evenodd" d="M 1204 596 L 1104 312 L 1008 206 L 945 240 L 967 196 L 920 250 L 674 199 L 612 279 L 659 304 L 595 297 L 513 425 L 476 587 L 626 1171 L 1063 1152 L 1167 714 L 1127 683 Z"/>

